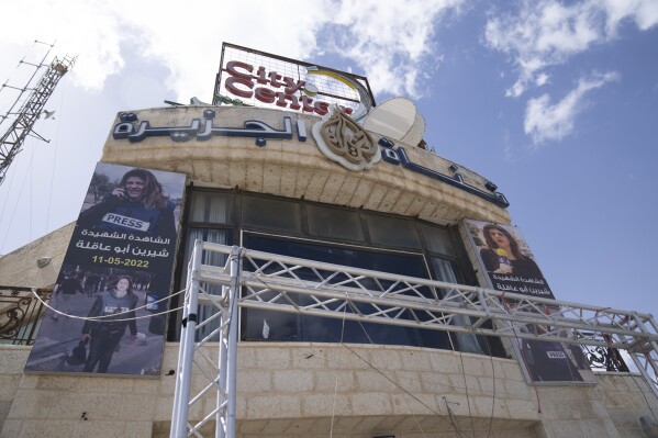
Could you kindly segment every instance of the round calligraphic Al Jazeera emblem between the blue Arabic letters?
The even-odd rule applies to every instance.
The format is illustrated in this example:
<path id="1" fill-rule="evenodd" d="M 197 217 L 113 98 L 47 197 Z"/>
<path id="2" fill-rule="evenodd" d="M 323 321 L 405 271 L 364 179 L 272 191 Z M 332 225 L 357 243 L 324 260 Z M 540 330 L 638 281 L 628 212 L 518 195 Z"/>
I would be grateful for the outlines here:
<path id="1" fill-rule="evenodd" d="M 349 170 L 369 169 L 381 159 L 379 146 L 370 134 L 336 105 L 312 131 L 320 150 Z"/>

